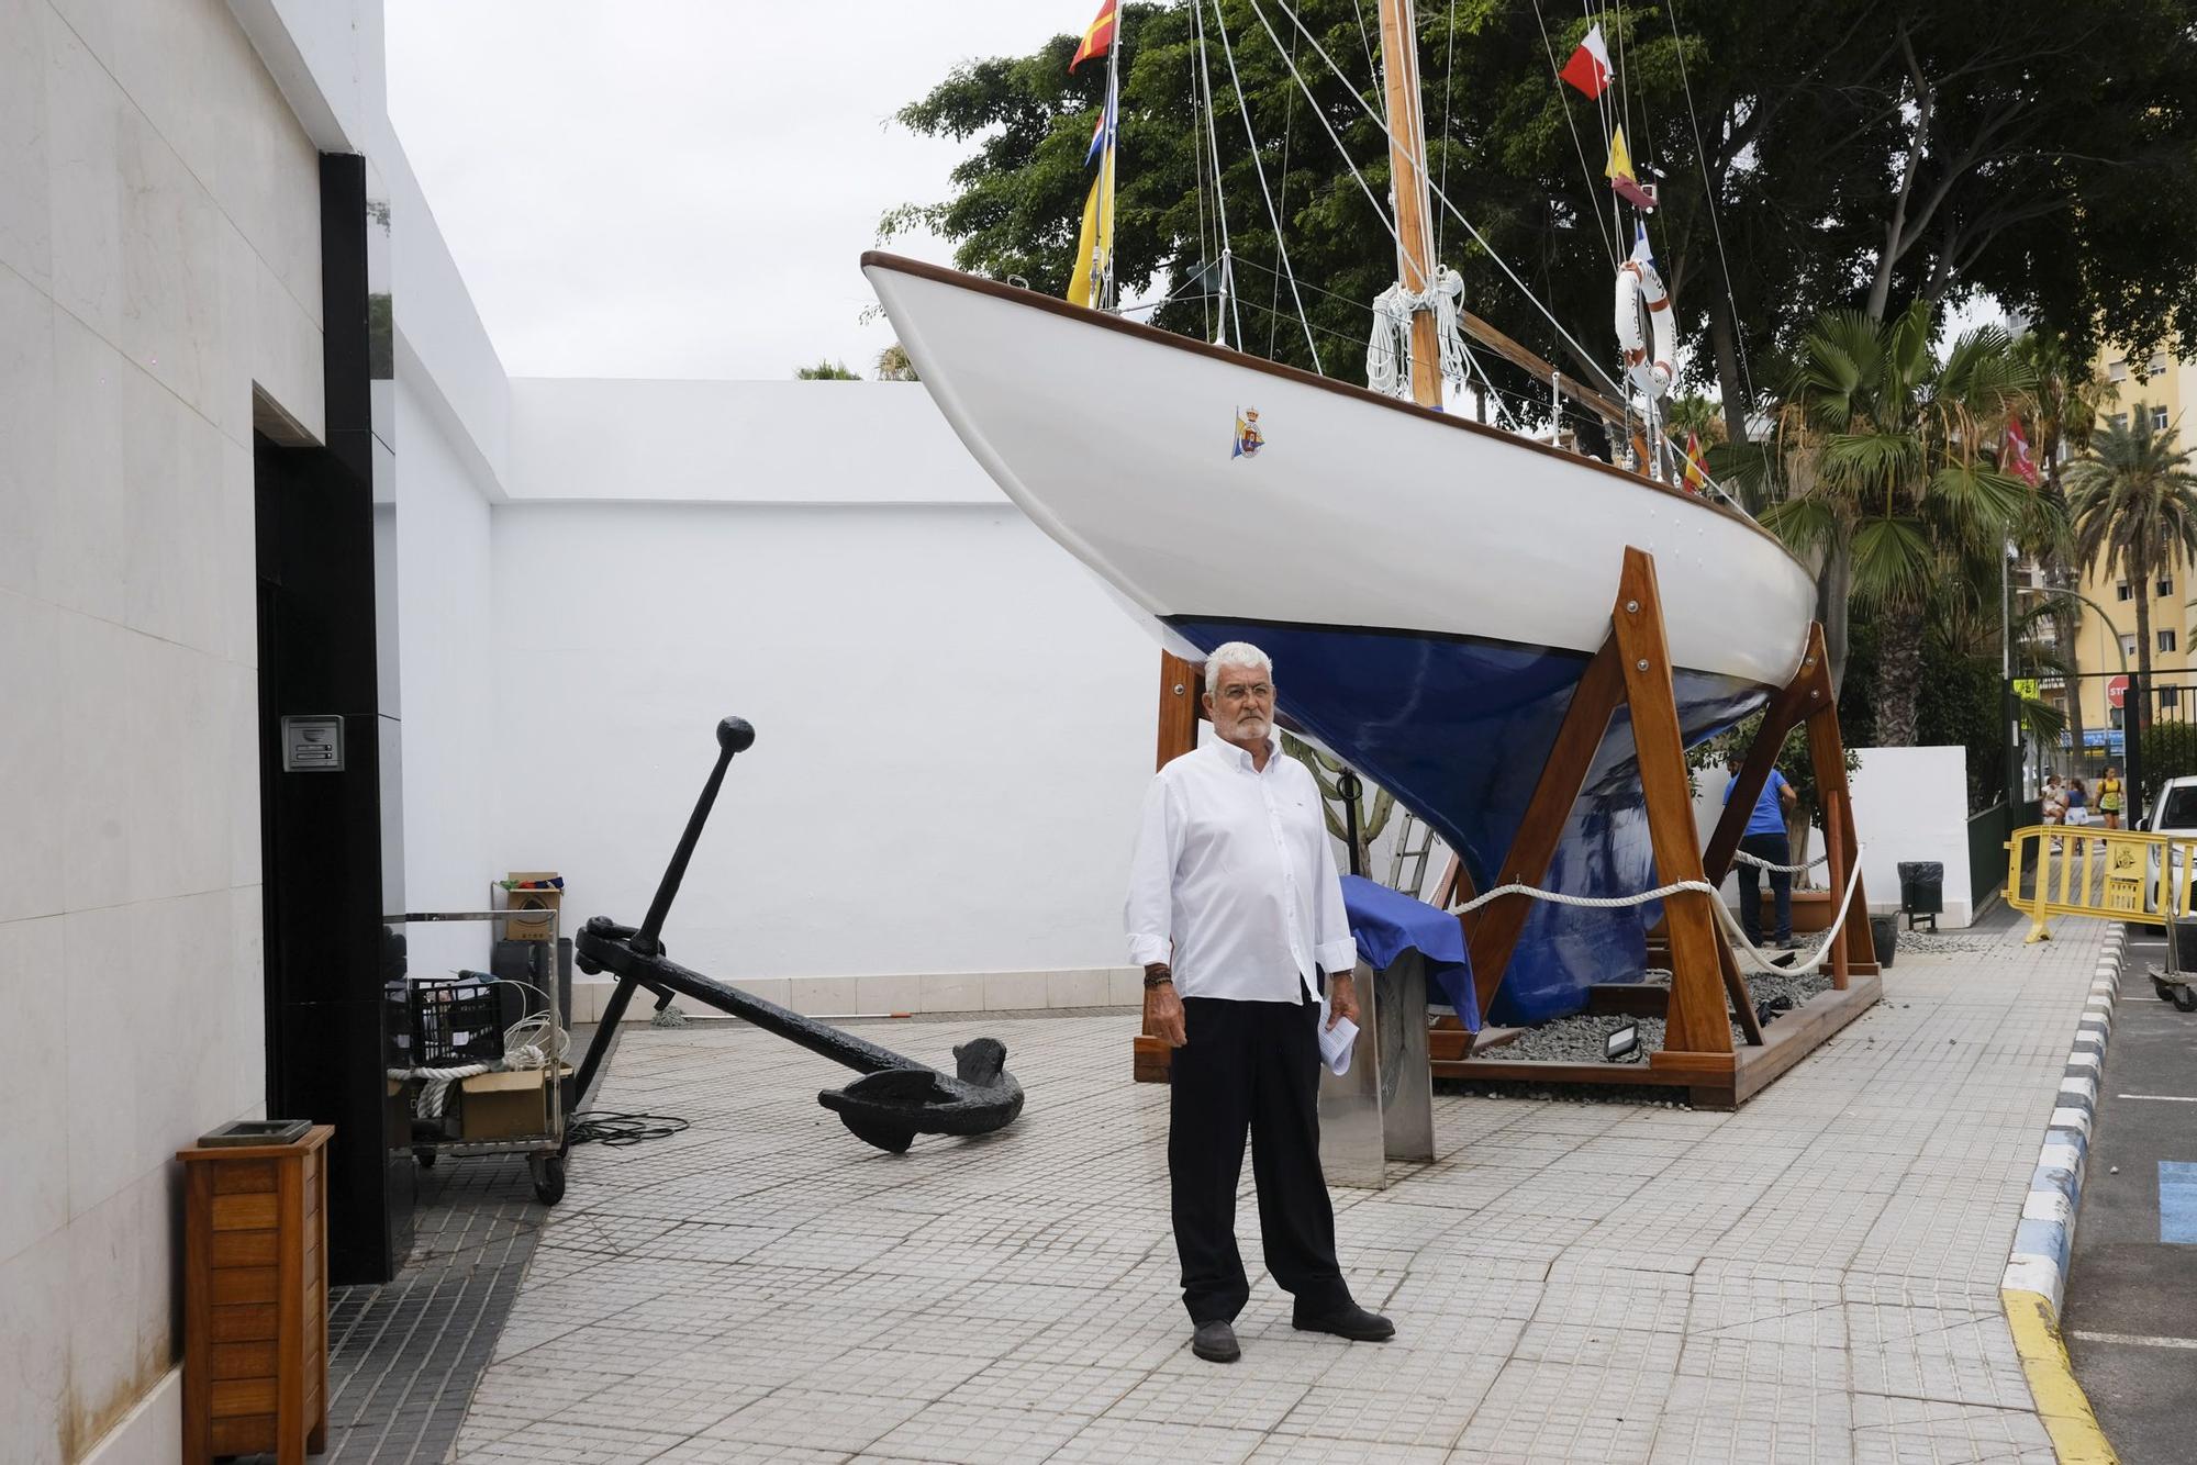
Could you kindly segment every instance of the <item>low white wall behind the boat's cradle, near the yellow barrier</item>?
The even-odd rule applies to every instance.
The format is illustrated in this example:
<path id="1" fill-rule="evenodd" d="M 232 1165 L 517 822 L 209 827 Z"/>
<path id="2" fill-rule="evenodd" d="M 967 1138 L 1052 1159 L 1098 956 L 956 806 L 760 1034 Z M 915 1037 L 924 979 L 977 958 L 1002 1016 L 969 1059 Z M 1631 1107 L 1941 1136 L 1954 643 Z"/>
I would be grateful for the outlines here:
<path id="1" fill-rule="evenodd" d="M 1962 747 L 1863 747 L 1861 767 L 1848 778 L 1854 791 L 1854 828 L 1861 832 L 1861 881 L 1872 912 L 1898 909 L 1900 863 L 1936 859 L 1944 865 L 1942 929 L 1975 920 L 1969 881 L 1969 764 Z M 1694 824 L 1707 843 L 1722 815 L 1722 769 L 1705 769 L 1696 780 Z M 1824 854 L 1824 830 L 1810 835 L 1808 857 Z M 1828 881 L 1826 865 L 1813 872 Z M 1725 894 L 1738 901 L 1738 876 L 1725 876 Z"/>

